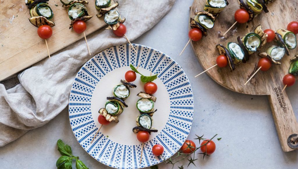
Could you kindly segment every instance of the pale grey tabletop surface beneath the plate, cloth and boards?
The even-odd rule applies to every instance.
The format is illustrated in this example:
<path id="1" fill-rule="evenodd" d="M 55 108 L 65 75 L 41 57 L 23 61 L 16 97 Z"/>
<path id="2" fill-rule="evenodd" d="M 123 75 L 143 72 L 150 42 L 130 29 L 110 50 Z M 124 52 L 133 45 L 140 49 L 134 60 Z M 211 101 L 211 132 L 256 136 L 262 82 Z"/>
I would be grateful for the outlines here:
<path id="1" fill-rule="evenodd" d="M 298 151 L 285 153 L 280 147 L 267 96 L 232 92 L 215 83 L 207 74 L 194 78 L 203 70 L 190 46 L 179 57 L 188 40 L 191 4 L 192 0 L 177 0 L 153 29 L 133 43 L 163 51 L 188 75 L 195 99 L 193 127 L 188 138 L 195 138 L 195 134 L 212 137 L 216 133 L 218 136 L 215 138 L 222 137 L 219 141 L 215 139 L 216 151 L 210 157 L 203 161 L 201 155 L 196 155 L 195 165 L 198 168 L 297 168 Z M 286 92 L 298 117 L 297 89 L 298 85 L 295 85 L 288 87 Z M 1 147 L 0 168 L 56 168 L 56 160 L 60 157 L 56 147 L 58 139 L 71 145 L 73 154 L 90 169 L 109 168 L 89 156 L 77 143 L 70 128 L 67 108 L 45 126 Z M 159 168 L 170 167 L 159 165 Z M 188 168 L 196 167 L 190 165 Z"/>

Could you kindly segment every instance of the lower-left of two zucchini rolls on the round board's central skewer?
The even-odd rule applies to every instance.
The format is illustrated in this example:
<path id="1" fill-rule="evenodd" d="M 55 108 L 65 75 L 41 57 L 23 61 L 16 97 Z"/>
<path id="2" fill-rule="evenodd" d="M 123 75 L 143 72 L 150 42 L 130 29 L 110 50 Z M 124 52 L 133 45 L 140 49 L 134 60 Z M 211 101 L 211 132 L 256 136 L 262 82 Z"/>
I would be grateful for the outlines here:
<path id="1" fill-rule="evenodd" d="M 244 51 L 242 50 L 242 48 L 234 42 L 229 42 L 226 45 L 226 48 L 229 50 L 231 57 L 233 58 L 234 64 L 240 64 L 244 58 Z"/>

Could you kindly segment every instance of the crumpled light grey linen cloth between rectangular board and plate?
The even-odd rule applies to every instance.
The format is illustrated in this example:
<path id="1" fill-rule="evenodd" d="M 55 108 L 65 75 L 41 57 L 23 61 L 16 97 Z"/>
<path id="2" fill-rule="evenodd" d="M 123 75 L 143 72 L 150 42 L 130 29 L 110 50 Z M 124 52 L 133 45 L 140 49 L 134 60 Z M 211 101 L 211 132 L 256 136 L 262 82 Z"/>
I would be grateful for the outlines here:
<path id="1" fill-rule="evenodd" d="M 118 9 L 126 18 L 127 37 L 134 40 L 151 29 L 174 3 L 175 0 L 120 0 Z M 116 37 L 111 30 L 105 29 L 92 33 L 87 39 L 92 55 L 127 43 L 124 37 Z M 20 73 L 20 84 L 15 87 L 6 90 L 0 84 L 0 146 L 58 115 L 68 104 L 76 73 L 90 58 L 82 39 Z"/>

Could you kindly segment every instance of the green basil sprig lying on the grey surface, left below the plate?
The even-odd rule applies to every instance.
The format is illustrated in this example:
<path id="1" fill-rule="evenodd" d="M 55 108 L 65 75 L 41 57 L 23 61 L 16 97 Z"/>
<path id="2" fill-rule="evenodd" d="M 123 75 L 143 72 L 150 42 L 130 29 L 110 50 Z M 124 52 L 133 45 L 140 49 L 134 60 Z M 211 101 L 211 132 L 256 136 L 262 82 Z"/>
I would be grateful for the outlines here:
<path id="1" fill-rule="evenodd" d="M 79 157 L 75 157 L 72 155 L 72 148 L 64 144 L 62 140 L 57 141 L 58 151 L 62 155 L 56 162 L 57 169 L 72 169 L 72 159 L 76 160 L 75 167 L 77 169 L 89 169 L 86 165 L 79 160 Z"/>

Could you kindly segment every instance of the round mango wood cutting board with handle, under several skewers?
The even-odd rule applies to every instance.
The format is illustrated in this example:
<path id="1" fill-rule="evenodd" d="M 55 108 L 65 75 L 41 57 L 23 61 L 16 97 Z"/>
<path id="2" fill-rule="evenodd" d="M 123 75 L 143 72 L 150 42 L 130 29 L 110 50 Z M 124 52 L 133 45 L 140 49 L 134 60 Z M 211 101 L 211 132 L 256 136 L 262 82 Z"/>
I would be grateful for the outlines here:
<path id="1" fill-rule="evenodd" d="M 298 1 L 288 0 L 286 3 L 284 1 L 275 1 L 268 4 L 268 13 L 262 12 L 247 24 L 236 24 L 232 30 L 237 27 L 237 32 L 232 33 L 230 31 L 223 39 L 220 37 L 235 22 L 234 12 L 239 9 L 238 0 L 228 1 L 229 5 L 216 19 L 214 28 L 207 30 L 208 36 L 203 37 L 198 42 L 192 41 L 193 50 L 205 70 L 216 64 L 215 60 L 219 55 L 215 47 L 217 44 L 226 46 L 228 42 L 237 43 L 238 36 L 243 37 L 247 33 L 253 32 L 259 24 L 261 24 L 263 30 L 269 28 L 277 30 L 279 28 L 286 29 L 289 22 L 298 20 L 298 15 L 296 15 Z M 196 10 L 203 10 L 204 5 L 205 1 L 194 0 L 190 10 L 190 17 L 194 17 Z M 259 52 L 265 52 L 271 45 L 276 45 L 276 43 L 267 43 Z M 256 71 L 257 62 L 260 59 L 257 56 L 259 52 L 251 55 L 247 63 L 236 65 L 235 71 L 231 72 L 229 66 L 226 68 L 216 66 L 207 72 L 215 82 L 229 90 L 250 95 L 268 96 L 279 140 L 283 151 L 286 152 L 294 150 L 288 146 L 287 139 L 291 134 L 298 134 L 298 123 L 286 92 L 281 93 L 284 86 L 282 79 L 285 74 L 288 74 L 290 58 L 297 53 L 297 49 L 290 50 L 290 56 L 283 57 L 282 65 L 272 65 L 270 70 L 258 72 L 251 82 L 245 86 L 244 83 Z"/>

